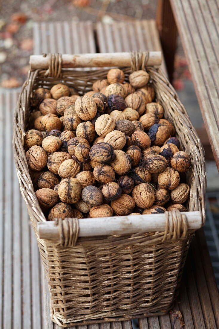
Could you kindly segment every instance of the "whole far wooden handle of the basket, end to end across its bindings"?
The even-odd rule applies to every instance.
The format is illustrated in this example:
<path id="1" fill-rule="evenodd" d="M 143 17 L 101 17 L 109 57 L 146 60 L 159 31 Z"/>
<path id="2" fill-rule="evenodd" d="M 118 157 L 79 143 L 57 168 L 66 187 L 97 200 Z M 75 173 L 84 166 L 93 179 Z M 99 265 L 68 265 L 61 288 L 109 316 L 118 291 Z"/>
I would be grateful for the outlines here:
<path id="1" fill-rule="evenodd" d="M 52 55 L 52 56 L 51 56 Z M 48 69 L 51 61 L 58 63 L 61 56 L 62 68 L 73 67 L 130 67 L 133 61 L 139 61 L 139 68 L 142 66 L 160 65 L 162 55 L 160 51 L 148 52 L 127 52 L 127 53 L 97 53 L 97 54 L 44 54 L 31 55 L 31 69 Z M 137 68 L 137 69 L 139 69 Z"/>

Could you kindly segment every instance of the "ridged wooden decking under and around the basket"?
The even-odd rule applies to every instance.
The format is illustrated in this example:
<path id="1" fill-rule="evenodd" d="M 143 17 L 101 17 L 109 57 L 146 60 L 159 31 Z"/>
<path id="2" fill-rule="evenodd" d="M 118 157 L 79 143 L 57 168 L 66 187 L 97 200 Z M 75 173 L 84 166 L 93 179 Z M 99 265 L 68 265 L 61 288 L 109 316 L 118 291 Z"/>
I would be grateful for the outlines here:
<path id="1" fill-rule="evenodd" d="M 93 26 L 86 23 L 36 24 L 35 54 L 42 52 L 95 52 Z M 97 24 L 101 52 L 138 49 L 160 50 L 155 22 Z M 59 33 L 54 37 L 54 31 Z M 75 33 L 77 31 L 78 33 Z M 119 32 L 121 31 L 121 32 Z M 80 36 L 79 36 L 80 33 Z M 89 36 L 86 37 L 86 36 Z M 75 40 L 87 40 L 85 43 Z M 86 38 L 86 39 L 84 39 Z M 123 39 L 125 38 L 125 39 Z M 123 40 L 122 40 L 123 39 Z M 144 45 L 144 48 L 142 47 Z M 37 241 L 28 220 L 13 166 L 12 116 L 17 90 L 0 92 L 0 329 L 58 329 L 49 314 L 49 292 L 40 266 Z M 187 329 L 219 328 L 219 296 L 203 230 L 193 239 L 183 272 L 179 297 L 173 310 L 180 310 Z M 139 320 L 140 329 L 171 329 L 174 316 Z M 76 326 L 71 329 L 131 329 L 131 321 Z M 179 320 L 174 329 L 179 329 Z"/>

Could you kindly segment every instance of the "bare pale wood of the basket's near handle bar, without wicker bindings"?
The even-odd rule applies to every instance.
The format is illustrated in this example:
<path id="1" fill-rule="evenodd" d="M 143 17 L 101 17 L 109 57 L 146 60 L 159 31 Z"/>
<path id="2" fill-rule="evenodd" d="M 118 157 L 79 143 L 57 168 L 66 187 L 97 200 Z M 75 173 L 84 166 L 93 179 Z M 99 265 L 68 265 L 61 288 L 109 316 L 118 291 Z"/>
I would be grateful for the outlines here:
<path id="1" fill-rule="evenodd" d="M 199 211 L 186 212 L 188 229 L 197 230 L 202 226 Z M 79 237 L 93 237 L 114 234 L 132 234 L 165 231 L 165 214 L 117 216 L 105 218 L 79 219 Z M 60 240 L 60 230 L 55 221 L 37 224 L 40 239 Z"/>

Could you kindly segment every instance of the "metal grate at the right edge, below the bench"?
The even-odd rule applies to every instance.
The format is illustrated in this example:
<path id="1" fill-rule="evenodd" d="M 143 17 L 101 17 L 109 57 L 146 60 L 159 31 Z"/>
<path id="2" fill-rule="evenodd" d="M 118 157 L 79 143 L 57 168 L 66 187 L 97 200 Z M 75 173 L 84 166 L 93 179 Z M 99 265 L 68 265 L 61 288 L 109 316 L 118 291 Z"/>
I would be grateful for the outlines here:
<path id="1" fill-rule="evenodd" d="M 206 193 L 206 224 L 204 231 L 219 288 L 219 192 Z"/>

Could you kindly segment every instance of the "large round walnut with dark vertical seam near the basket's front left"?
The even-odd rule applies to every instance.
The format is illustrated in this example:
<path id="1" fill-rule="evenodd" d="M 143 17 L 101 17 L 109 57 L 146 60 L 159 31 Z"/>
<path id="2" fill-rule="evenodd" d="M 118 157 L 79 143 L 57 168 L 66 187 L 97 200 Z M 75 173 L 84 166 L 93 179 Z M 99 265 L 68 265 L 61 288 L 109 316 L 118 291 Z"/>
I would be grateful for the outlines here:
<path id="1" fill-rule="evenodd" d="M 59 184 L 59 197 L 62 202 L 76 203 L 81 198 L 82 187 L 76 178 L 63 179 Z"/>

